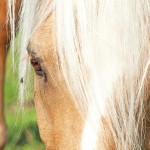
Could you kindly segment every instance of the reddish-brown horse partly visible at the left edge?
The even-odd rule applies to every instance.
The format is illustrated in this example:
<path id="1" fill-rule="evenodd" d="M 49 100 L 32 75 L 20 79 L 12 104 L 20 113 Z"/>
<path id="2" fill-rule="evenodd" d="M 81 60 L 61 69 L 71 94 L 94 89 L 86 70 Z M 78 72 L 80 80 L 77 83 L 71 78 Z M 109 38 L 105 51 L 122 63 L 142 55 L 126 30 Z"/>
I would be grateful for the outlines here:
<path id="1" fill-rule="evenodd" d="M 7 141 L 7 128 L 4 117 L 4 72 L 5 72 L 5 61 L 7 55 L 7 49 L 10 42 L 10 27 L 8 25 L 7 16 L 7 1 L 3 0 L 0 2 L 0 149 L 4 148 Z M 17 1 L 15 5 L 15 13 L 19 12 L 20 2 Z M 17 18 L 15 22 L 17 23 Z"/>

